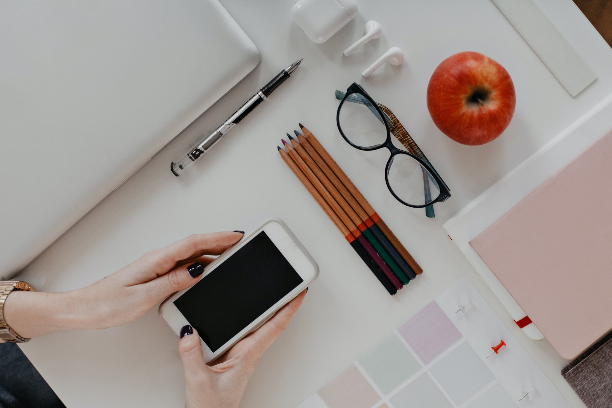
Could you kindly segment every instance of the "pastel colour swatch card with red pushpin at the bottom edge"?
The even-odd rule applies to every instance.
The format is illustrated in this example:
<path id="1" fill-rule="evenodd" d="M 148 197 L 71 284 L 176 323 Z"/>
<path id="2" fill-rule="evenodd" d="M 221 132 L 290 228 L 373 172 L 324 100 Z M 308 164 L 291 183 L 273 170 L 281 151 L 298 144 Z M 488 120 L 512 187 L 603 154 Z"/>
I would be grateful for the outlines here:
<path id="1" fill-rule="evenodd" d="M 298 408 L 490 407 L 569 404 L 464 277 Z"/>

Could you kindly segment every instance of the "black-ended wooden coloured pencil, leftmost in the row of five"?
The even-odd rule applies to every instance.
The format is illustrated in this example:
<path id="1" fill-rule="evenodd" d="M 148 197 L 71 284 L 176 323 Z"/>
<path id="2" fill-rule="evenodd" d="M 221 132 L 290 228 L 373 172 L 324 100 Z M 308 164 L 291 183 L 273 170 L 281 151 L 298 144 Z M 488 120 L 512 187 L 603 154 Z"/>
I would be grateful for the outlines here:
<path id="1" fill-rule="evenodd" d="M 306 187 L 307 191 L 310 192 L 310 195 L 315 198 L 315 201 L 319 204 L 319 206 L 321 206 L 327 216 L 332 220 L 332 222 L 334 222 L 334 225 L 338 228 L 338 230 L 340 230 L 340 233 L 345 237 L 346 241 L 348 241 L 351 247 L 353 247 L 354 251 L 357 252 L 357 255 L 359 255 L 359 257 L 364 261 L 368 268 L 370 268 L 374 276 L 376 276 L 376 279 L 378 279 L 378 281 L 383 284 L 384 288 L 387 290 L 387 292 L 389 292 L 390 295 L 395 295 L 395 293 L 397 293 L 395 285 L 392 284 L 389 279 L 387 279 L 383 271 L 378 267 L 378 265 L 376 265 L 374 260 L 370 257 L 370 255 L 368 255 L 368 253 L 365 251 L 364 247 L 361 246 L 359 241 L 356 240 L 353 233 L 349 231 L 349 229 L 342 222 L 340 217 L 338 217 L 338 215 L 334 213 L 334 210 L 332 210 L 332 208 L 329 206 L 329 204 L 327 204 L 321 194 L 319 194 L 315 186 L 313 186 L 313 184 L 308 181 L 302 170 L 297 167 L 297 164 L 293 161 L 293 159 L 291 159 L 291 157 L 289 157 L 286 151 L 280 148 L 280 146 L 278 146 L 278 153 L 282 157 L 283 161 L 285 161 L 285 163 L 289 166 L 291 171 L 297 176 L 297 179 L 299 179 L 299 181 L 304 184 L 304 187 Z"/>

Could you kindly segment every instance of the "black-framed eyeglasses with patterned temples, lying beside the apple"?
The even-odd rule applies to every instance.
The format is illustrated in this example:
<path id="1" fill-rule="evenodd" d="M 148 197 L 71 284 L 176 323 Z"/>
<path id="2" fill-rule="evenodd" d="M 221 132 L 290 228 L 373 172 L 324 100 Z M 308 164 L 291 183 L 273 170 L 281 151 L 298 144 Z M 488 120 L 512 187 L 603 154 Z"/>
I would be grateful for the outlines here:
<path id="1" fill-rule="evenodd" d="M 336 115 L 338 130 L 346 142 L 365 151 L 389 149 L 385 168 L 389 191 L 403 205 L 427 207 L 427 216 L 433 217 L 431 205 L 449 198 L 450 189 L 393 112 L 377 104 L 357 83 L 349 86 L 346 94 L 336 91 L 336 98 L 341 100 Z M 394 146 L 391 133 L 408 151 Z"/>

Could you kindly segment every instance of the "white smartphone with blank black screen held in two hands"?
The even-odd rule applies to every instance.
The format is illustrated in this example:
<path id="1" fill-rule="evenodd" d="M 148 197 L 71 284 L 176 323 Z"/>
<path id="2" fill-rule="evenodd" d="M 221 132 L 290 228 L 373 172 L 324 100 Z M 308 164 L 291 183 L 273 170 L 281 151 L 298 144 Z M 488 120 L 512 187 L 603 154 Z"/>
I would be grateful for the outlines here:
<path id="1" fill-rule="evenodd" d="M 194 327 L 209 363 L 256 330 L 306 289 L 319 266 L 280 219 L 255 232 L 211 262 L 189 289 L 166 298 L 159 314 L 179 335 Z"/>

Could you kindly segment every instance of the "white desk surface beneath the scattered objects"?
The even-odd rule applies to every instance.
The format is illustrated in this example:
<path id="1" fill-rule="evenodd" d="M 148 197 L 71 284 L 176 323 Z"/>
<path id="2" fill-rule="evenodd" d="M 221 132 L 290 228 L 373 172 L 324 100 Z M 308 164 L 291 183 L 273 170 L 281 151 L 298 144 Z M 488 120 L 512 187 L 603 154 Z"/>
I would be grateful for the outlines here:
<path id="1" fill-rule="evenodd" d="M 222 0 L 261 50 L 261 67 L 65 233 L 21 278 L 40 290 L 76 289 L 190 233 L 250 230 L 266 217 L 279 216 L 312 252 L 321 275 L 286 332 L 261 359 L 242 407 L 297 406 L 464 274 L 570 404 L 583 407 L 559 374 L 566 361 L 547 341 L 534 342 L 521 333 L 441 228 L 472 198 L 612 93 L 612 50 L 573 2 L 535 2 L 599 75 L 575 98 L 490 0 L 360 0 L 357 17 L 321 45 L 310 42 L 291 21 L 292 1 Z M 381 23 L 381 39 L 342 58 L 342 50 L 362 36 L 368 20 Z M 363 80 L 359 73 L 392 45 L 405 51 L 406 62 L 384 66 Z M 500 62 L 517 91 L 512 123 L 485 146 L 452 142 L 436 129 L 425 105 L 431 72 L 442 59 L 465 50 Z M 304 62 L 291 79 L 214 151 L 181 178 L 170 173 L 170 161 L 196 135 L 214 129 L 300 57 Z M 362 153 L 338 134 L 334 91 L 353 81 L 394 111 L 452 189 L 452 198 L 436 204 L 435 219 L 391 197 L 383 178 L 386 153 Z M 424 268 L 395 297 L 387 295 L 278 157 L 279 139 L 298 122 L 315 132 Z M 69 407 L 184 403 L 177 338 L 156 308 L 123 327 L 51 334 L 21 348 Z"/>

